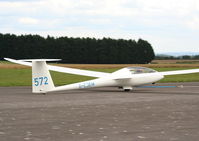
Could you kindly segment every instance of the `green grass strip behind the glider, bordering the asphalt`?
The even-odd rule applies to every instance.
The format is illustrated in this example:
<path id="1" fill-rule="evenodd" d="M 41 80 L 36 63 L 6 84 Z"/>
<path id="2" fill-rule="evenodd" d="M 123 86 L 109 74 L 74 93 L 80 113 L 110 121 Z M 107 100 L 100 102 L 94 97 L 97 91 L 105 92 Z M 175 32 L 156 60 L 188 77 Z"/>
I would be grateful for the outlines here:
<path id="1" fill-rule="evenodd" d="M 154 68 L 157 71 L 170 71 L 191 68 Z M 92 69 L 102 72 L 113 72 L 117 69 Z M 92 77 L 78 76 L 59 72 L 51 72 L 55 85 L 71 84 L 93 79 Z M 160 82 L 199 82 L 199 73 L 186 75 L 166 76 Z M 0 69 L 0 86 L 30 86 L 31 69 Z"/>

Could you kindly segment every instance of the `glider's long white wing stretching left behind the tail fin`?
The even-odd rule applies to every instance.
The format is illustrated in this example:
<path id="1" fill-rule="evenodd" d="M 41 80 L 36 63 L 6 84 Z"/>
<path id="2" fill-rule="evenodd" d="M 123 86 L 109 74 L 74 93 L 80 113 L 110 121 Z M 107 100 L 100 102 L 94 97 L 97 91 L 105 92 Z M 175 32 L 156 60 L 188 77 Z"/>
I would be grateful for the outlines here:
<path id="1" fill-rule="evenodd" d="M 7 61 L 10 61 L 10 62 L 13 62 L 13 63 L 17 63 L 17 64 L 21 64 L 21 65 L 25 65 L 25 66 L 32 66 L 32 63 L 25 62 L 23 60 L 15 60 L 15 59 L 11 59 L 11 58 L 4 58 L 4 59 Z M 33 60 L 31 60 L 31 61 L 33 61 Z M 105 72 L 73 69 L 73 68 L 58 67 L 58 66 L 52 66 L 52 65 L 48 65 L 48 69 L 52 70 L 52 71 L 62 72 L 62 73 L 70 73 L 70 74 L 90 76 L 90 77 L 105 77 L 105 76 L 110 75 L 110 73 L 105 73 Z"/>

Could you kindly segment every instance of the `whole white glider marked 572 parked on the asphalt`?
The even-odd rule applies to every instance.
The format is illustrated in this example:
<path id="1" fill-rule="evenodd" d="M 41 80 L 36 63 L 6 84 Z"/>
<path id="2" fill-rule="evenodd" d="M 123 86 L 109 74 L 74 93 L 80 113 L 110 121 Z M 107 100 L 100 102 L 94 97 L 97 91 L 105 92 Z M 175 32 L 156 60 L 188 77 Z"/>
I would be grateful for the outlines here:
<path id="1" fill-rule="evenodd" d="M 29 59 L 29 60 L 15 60 L 11 58 L 4 58 L 7 61 L 31 66 L 32 67 L 32 92 L 33 93 L 47 93 L 54 91 L 85 89 L 94 87 L 113 86 L 122 88 L 124 91 L 130 91 L 133 87 L 143 86 L 145 84 L 155 83 L 164 78 L 166 75 L 189 74 L 197 73 L 199 69 L 178 70 L 157 72 L 145 67 L 126 67 L 115 71 L 113 73 L 65 68 L 59 66 L 47 65 L 47 61 L 59 61 L 60 59 Z M 96 77 L 94 80 L 84 82 L 54 86 L 49 70 L 77 74 L 83 76 Z"/>

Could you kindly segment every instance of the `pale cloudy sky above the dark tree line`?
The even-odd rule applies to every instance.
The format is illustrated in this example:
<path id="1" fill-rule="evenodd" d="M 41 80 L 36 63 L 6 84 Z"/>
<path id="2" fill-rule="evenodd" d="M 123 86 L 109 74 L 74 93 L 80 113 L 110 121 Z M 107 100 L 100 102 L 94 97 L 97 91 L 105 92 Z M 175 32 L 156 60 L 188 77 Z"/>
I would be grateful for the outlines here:
<path id="1" fill-rule="evenodd" d="M 155 53 L 199 52 L 199 0 L 0 0 L 0 33 L 142 38 Z"/>

